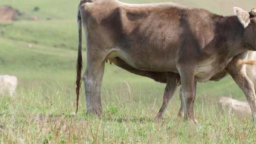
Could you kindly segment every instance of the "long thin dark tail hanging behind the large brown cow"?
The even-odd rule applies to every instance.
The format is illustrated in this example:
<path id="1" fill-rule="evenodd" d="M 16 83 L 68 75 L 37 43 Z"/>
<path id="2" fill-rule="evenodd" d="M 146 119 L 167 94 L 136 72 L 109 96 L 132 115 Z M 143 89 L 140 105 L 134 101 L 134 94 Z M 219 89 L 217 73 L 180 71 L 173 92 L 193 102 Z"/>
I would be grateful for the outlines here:
<path id="1" fill-rule="evenodd" d="M 79 102 L 79 93 L 82 84 L 82 19 L 80 12 L 80 4 L 77 10 L 77 24 L 78 24 L 78 54 L 77 54 L 77 62 L 76 62 L 76 109 L 75 114 L 78 111 L 78 102 Z"/>

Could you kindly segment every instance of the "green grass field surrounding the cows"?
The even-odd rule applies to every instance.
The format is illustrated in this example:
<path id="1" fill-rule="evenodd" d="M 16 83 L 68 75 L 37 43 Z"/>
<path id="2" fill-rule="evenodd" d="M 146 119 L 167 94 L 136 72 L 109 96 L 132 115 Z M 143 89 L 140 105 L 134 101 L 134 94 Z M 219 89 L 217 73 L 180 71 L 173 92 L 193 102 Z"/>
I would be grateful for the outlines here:
<path id="1" fill-rule="evenodd" d="M 255 6 L 253 0 L 173 2 L 223 15 L 232 14 L 234 6 L 247 10 Z M 0 23 L 0 74 L 18 77 L 16 94 L 0 96 L 0 144 L 256 143 L 250 117 L 221 114 L 217 108 L 220 96 L 245 100 L 230 77 L 198 85 L 198 126 L 177 118 L 177 93 L 164 121 L 158 124 L 153 119 L 162 104 L 165 85 L 107 64 L 101 90 L 104 116 L 86 115 L 82 90 L 80 110 L 73 117 L 78 3 L 79 0 L 0 1 L 0 5 L 11 5 L 24 13 L 18 21 Z M 34 7 L 40 10 L 33 12 Z M 29 20 L 33 16 L 38 21 Z"/>

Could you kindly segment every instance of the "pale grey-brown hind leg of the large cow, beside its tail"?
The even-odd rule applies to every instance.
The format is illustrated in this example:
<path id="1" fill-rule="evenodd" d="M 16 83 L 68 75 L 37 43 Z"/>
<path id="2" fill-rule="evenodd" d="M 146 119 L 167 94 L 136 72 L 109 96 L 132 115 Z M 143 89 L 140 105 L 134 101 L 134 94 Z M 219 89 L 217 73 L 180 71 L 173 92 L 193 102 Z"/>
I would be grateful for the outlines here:
<path id="1" fill-rule="evenodd" d="M 94 45 L 89 44 L 87 47 L 87 66 L 82 76 L 85 87 L 87 114 L 101 116 L 101 83 L 106 54 Z"/>

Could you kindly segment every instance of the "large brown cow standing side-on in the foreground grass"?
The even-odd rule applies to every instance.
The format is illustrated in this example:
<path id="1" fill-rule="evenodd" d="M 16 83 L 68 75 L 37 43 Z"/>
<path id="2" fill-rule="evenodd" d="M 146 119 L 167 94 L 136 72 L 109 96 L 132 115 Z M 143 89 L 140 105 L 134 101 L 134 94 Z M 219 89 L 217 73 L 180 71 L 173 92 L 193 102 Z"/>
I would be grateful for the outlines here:
<path id="1" fill-rule="evenodd" d="M 168 3 L 81 0 L 76 112 L 83 80 L 87 114 L 102 115 L 101 83 L 105 61 L 110 60 L 115 64 L 121 61 L 149 76 L 164 74 L 165 79 L 156 79 L 166 82 L 166 106 L 180 81 L 183 118 L 193 123 L 197 123 L 193 112 L 197 82 L 209 81 L 226 71 L 244 91 L 256 124 L 254 85 L 245 72 L 245 64 L 240 63 L 247 59 L 248 50 L 256 51 L 256 18 L 237 7 L 234 11 L 234 16 L 224 17 L 205 9 Z M 82 26 L 87 40 L 83 75 Z"/>

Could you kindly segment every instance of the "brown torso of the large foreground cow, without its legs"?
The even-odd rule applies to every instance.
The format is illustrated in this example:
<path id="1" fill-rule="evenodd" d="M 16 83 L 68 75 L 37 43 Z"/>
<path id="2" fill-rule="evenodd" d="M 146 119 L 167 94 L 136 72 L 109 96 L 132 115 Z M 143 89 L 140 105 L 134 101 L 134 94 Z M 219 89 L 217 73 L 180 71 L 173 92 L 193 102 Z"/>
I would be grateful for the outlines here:
<path id="1" fill-rule="evenodd" d="M 103 6 L 106 11 L 97 9 Z M 243 52 L 241 49 L 234 54 L 223 53 L 228 51 L 227 45 L 231 50 L 234 43 L 226 43 L 227 34 L 221 32 L 222 28 L 234 33 L 234 37 L 230 37 L 232 41 L 236 41 L 235 33 L 242 34 L 243 27 L 236 31 L 232 28 L 237 27 L 230 27 L 236 24 L 232 22 L 238 20 L 236 16 L 225 21 L 222 16 L 202 9 L 172 4 L 130 5 L 115 0 L 95 0 L 81 7 L 83 20 L 94 24 L 86 26 L 89 33 L 101 33 L 104 38 L 97 40 L 110 43 L 106 58 L 120 58 L 139 70 L 178 73 L 178 61 L 197 62 L 196 80 L 208 81 L 223 70 L 234 55 Z M 90 17 L 85 13 L 90 13 Z M 219 27 L 221 23 L 226 24 Z"/>

